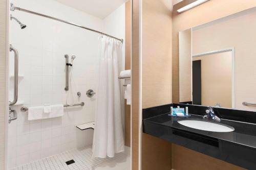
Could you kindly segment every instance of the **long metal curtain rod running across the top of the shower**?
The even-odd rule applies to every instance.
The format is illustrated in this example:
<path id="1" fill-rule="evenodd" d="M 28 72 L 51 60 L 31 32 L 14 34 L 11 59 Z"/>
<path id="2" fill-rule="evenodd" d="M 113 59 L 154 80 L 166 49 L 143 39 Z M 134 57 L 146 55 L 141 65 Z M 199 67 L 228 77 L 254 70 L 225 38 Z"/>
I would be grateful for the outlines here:
<path id="1" fill-rule="evenodd" d="M 30 10 L 26 10 L 26 9 L 23 9 L 23 8 L 19 8 L 19 7 L 15 7 L 14 4 L 11 3 L 11 11 L 14 11 L 14 10 L 23 11 L 23 12 L 27 12 L 27 13 L 43 16 L 43 17 L 50 18 L 50 19 L 53 19 L 53 20 L 57 20 L 57 21 L 60 21 L 60 22 L 63 22 L 63 23 L 68 23 L 69 25 L 72 25 L 72 26 L 80 27 L 80 28 L 83 28 L 83 29 L 86 29 L 86 30 L 90 30 L 90 31 L 93 31 L 93 32 L 96 32 L 96 33 L 99 33 L 99 34 L 102 34 L 102 35 L 105 35 L 105 36 L 117 39 L 117 40 L 119 40 L 119 41 L 121 41 L 123 43 L 123 39 L 116 38 L 116 37 L 114 37 L 112 35 L 105 34 L 105 33 L 102 33 L 100 31 L 93 30 L 93 29 L 90 29 L 90 28 L 87 28 L 87 27 L 83 27 L 83 26 L 77 25 L 76 23 L 68 22 L 66 20 L 58 19 L 58 18 L 49 16 L 49 15 L 37 13 L 37 12 L 34 12 L 34 11 L 30 11 Z"/>

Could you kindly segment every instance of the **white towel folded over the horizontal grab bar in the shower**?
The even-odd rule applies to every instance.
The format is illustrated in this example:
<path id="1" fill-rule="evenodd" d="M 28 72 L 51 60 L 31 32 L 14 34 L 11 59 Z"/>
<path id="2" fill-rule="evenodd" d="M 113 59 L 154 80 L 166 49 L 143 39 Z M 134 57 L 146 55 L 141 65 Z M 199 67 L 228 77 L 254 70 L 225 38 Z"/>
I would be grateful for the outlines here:
<path id="1" fill-rule="evenodd" d="M 51 105 L 50 107 L 51 107 L 51 111 L 49 114 L 44 113 L 43 106 L 29 107 L 28 120 L 38 120 L 38 119 L 46 119 L 46 118 L 63 116 L 64 114 L 63 105 Z"/>

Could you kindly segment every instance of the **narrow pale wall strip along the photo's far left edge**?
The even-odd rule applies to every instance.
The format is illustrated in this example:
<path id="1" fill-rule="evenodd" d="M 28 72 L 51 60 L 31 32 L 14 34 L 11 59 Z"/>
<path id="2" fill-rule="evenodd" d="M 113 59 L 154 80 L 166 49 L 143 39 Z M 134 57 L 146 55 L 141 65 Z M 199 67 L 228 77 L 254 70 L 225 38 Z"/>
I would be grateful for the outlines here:
<path id="1" fill-rule="evenodd" d="M 0 1 L 0 169 L 5 169 L 5 114 L 6 114 L 6 9 Z"/>

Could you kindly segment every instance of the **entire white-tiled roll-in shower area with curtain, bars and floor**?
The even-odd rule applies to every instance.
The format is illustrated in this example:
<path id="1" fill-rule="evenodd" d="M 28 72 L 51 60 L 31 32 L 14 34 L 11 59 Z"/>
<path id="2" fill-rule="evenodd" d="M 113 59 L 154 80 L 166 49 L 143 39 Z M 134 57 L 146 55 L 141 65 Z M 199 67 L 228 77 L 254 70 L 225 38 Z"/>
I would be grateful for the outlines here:
<path id="1" fill-rule="evenodd" d="M 10 2 L 8 169 L 130 169 L 129 6 Z"/>

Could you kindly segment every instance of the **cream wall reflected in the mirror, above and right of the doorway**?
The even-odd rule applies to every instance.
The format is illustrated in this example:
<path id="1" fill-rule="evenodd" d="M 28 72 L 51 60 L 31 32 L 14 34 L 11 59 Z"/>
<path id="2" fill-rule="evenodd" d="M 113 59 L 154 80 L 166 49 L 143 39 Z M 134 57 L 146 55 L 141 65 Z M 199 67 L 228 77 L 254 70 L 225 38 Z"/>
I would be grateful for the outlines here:
<path id="1" fill-rule="evenodd" d="M 234 47 L 236 109 L 256 110 L 256 8 L 193 31 L 193 54 Z M 210 34 L 209 34 L 210 33 Z"/>

